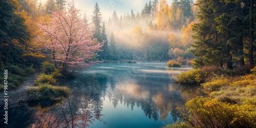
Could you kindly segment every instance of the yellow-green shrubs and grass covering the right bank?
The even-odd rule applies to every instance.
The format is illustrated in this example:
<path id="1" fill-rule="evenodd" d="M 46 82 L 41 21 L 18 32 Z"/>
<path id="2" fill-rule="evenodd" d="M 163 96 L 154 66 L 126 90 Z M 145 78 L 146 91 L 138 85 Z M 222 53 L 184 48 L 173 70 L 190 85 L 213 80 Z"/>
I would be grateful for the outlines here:
<path id="1" fill-rule="evenodd" d="M 254 67 L 254 68 L 253 68 Z M 176 108 L 180 120 L 168 127 L 256 127 L 256 67 L 203 67 L 178 74 L 175 83 L 208 94 Z"/>

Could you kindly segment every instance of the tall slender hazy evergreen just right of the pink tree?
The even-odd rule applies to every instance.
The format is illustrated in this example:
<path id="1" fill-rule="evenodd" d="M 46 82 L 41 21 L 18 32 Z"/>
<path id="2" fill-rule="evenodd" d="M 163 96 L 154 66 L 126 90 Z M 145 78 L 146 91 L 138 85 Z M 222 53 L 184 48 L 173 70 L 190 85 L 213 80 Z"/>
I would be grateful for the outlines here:
<path id="1" fill-rule="evenodd" d="M 95 27 L 94 29 L 94 38 L 97 38 L 97 40 L 99 42 L 102 41 L 101 39 L 101 32 L 102 32 L 102 26 L 100 25 L 102 22 L 102 17 L 101 17 L 101 12 L 100 12 L 100 9 L 99 9 L 99 5 L 98 3 L 95 4 L 94 6 L 94 11 L 93 11 L 93 15 L 92 15 L 92 23 Z"/>

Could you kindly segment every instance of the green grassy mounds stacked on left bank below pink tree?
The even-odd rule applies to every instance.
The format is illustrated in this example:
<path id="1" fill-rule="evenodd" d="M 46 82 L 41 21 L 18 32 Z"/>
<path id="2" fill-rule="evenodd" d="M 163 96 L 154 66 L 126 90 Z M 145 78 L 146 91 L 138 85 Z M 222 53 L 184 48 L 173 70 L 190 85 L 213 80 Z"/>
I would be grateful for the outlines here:
<path id="1" fill-rule="evenodd" d="M 28 90 L 29 101 L 59 101 L 66 98 L 70 94 L 70 89 L 59 87 L 58 79 L 63 77 L 54 66 L 45 61 L 41 66 L 42 73 L 35 79 L 34 88 Z"/>

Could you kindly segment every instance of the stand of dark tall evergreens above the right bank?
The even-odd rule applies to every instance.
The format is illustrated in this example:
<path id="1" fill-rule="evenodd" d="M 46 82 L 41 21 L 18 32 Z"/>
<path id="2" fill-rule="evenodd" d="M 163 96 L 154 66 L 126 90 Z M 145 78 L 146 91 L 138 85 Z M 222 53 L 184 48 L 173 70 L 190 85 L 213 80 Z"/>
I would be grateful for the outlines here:
<path id="1" fill-rule="evenodd" d="M 255 1 L 199 0 L 196 6 L 199 22 L 192 27 L 196 41 L 191 46 L 197 67 L 255 63 Z"/>

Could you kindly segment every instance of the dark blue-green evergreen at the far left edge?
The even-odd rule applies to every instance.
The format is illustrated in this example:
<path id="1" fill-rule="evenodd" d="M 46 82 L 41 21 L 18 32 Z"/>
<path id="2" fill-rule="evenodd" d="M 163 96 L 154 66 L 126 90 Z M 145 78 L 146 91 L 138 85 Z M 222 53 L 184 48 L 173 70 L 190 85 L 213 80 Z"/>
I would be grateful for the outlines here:
<path id="1" fill-rule="evenodd" d="M 0 67 L 2 63 L 23 62 L 23 40 L 27 34 L 26 12 L 15 0 L 0 1 Z"/>

